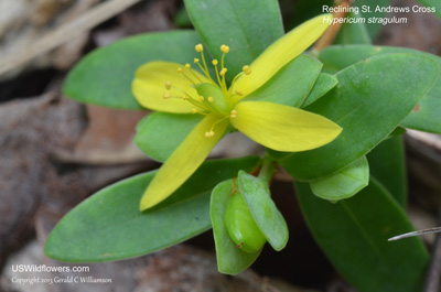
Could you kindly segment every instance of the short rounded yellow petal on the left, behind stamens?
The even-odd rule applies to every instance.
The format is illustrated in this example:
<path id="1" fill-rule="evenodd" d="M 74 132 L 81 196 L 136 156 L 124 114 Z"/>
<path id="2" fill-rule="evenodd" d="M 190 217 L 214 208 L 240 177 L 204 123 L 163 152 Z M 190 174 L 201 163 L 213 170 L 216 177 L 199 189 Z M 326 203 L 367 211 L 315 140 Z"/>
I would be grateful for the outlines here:
<path id="1" fill-rule="evenodd" d="M 178 73 L 179 67 L 183 69 L 182 73 Z M 165 89 L 165 83 L 170 82 L 172 87 L 179 88 L 198 100 L 198 95 L 192 88 L 192 83 L 183 74 L 194 82 L 209 83 L 202 74 L 187 69 L 178 63 L 150 62 L 137 69 L 131 89 L 138 102 L 146 108 L 165 112 L 190 113 L 194 108 L 191 102 L 181 98 L 173 98 L 173 96 L 182 97 L 184 94 L 174 88 L 171 90 Z M 172 97 L 164 99 L 166 91 Z"/>

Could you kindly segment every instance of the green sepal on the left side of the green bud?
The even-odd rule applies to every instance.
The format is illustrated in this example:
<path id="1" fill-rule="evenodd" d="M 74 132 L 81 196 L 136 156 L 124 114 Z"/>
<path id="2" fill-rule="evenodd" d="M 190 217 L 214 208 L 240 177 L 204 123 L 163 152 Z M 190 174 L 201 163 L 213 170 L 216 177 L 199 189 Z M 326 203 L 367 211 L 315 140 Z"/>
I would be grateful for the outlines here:
<path id="1" fill-rule="evenodd" d="M 209 214 L 216 245 L 217 269 L 222 273 L 238 274 L 259 257 L 260 251 L 248 253 L 238 248 L 229 238 L 224 225 L 224 214 L 233 193 L 233 180 L 219 183 L 213 190 Z"/>

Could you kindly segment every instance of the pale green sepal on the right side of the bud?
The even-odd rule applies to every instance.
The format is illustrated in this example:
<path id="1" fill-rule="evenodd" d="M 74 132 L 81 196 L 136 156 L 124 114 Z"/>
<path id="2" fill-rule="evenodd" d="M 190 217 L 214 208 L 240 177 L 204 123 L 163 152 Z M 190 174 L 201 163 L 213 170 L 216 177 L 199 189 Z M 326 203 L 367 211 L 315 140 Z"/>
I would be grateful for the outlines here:
<path id="1" fill-rule="evenodd" d="M 245 171 L 239 171 L 239 190 L 257 226 L 273 249 L 280 251 L 288 242 L 288 226 L 271 199 L 268 185 Z"/>

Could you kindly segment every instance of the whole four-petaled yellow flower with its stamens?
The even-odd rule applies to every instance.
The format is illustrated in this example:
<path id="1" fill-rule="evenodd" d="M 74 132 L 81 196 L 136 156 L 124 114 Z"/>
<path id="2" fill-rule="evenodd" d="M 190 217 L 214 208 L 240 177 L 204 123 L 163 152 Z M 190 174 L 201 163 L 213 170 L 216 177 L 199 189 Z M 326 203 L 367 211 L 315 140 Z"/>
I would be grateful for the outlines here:
<path id="1" fill-rule="evenodd" d="M 220 46 L 220 62 L 212 62 L 215 78 L 208 73 L 202 44 L 195 46 L 201 60 L 194 58 L 194 63 L 204 75 L 193 71 L 190 64 L 169 62 L 151 62 L 138 68 L 132 91 L 142 106 L 205 116 L 158 171 L 141 198 L 141 210 L 176 191 L 204 162 L 229 125 L 267 148 L 289 152 L 319 148 L 340 134 L 341 128 L 322 116 L 245 99 L 319 39 L 329 25 L 323 20 L 326 17 L 330 15 L 316 17 L 276 41 L 252 64 L 245 65 L 229 87 L 224 66 L 229 52 L 227 45 Z"/>

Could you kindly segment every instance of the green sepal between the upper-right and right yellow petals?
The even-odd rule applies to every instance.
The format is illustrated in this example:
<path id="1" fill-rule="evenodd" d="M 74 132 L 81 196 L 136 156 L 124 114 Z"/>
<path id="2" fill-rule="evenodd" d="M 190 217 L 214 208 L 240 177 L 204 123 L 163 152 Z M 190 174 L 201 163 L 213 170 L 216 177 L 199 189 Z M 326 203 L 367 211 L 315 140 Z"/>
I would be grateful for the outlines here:
<path id="1" fill-rule="evenodd" d="M 244 100 L 300 107 L 314 86 L 322 66 L 323 64 L 315 57 L 300 55 Z"/>

